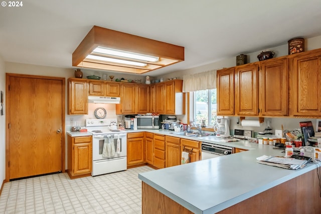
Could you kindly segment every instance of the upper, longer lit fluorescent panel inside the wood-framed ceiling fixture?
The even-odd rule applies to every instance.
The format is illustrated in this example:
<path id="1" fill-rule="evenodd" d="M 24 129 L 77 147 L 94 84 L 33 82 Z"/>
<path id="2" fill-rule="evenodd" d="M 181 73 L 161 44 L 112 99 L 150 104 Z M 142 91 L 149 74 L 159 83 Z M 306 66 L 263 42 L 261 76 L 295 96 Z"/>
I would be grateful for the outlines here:
<path id="1" fill-rule="evenodd" d="M 104 54 L 104 55 L 115 56 L 115 57 L 123 57 L 123 58 L 129 58 L 134 60 L 142 60 L 147 62 L 157 62 L 159 60 L 159 57 L 153 57 L 149 55 L 137 54 L 137 53 L 132 53 L 128 51 L 105 48 L 101 46 L 98 46 L 97 48 L 95 48 L 95 50 L 93 50 L 92 53 Z"/>

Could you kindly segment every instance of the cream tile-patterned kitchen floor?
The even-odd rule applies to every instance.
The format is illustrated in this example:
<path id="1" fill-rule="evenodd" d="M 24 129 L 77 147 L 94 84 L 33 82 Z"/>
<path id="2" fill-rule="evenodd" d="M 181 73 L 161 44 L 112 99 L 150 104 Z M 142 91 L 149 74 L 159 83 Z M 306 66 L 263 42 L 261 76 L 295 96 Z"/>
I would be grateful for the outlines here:
<path id="1" fill-rule="evenodd" d="M 141 180 L 148 166 L 71 180 L 67 173 L 5 183 L 0 213 L 141 213 Z"/>

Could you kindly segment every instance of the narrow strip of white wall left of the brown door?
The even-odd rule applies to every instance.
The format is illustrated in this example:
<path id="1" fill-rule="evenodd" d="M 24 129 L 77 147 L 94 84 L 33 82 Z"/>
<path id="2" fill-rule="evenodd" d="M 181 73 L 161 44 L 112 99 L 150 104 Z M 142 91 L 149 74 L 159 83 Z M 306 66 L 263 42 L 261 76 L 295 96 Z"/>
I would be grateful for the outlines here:
<path id="1" fill-rule="evenodd" d="M 4 92 L 4 105 L 6 104 L 6 72 L 5 62 L 0 56 L 0 91 Z M 1 106 L 0 106 L 1 108 Z M 6 108 L 3 107 L 4 115 L 0 115 L 0 186 L 6 178 Z"/>

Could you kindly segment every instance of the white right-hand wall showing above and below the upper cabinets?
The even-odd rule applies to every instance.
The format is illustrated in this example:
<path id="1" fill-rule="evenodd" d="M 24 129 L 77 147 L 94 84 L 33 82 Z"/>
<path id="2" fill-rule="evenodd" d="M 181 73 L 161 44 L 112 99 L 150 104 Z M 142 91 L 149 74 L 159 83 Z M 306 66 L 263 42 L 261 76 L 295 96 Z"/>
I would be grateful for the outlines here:
<path id="1" fill-rule="evenodd" d="M 321 36 L 313 37 L 310 39 L 305 39 L 305 51 L 318 49 L 318 48 L 321 48 Z M 265 50 L 275 52 L 274 58 L 286 56 L 286 55 L 288 55 L 288 44 L 287 44 L 287 41 L 285 41 L 284 45 L 277 46 L 277 47 L 271 47 L 271 48 L 265 49 Z M 258 50 L 253 53 L 244 53 L 244 54 L 246 54 L 248 56 L 248 62 L 252 63 L 252 62 L 258 61 L 257 55 L 259 55 L 261 53 L 261 51 L 262 50 Z M 201 73 L 201 72 L 215 70 L 215 69 L 229 68 L 229 67 L 233 67 L 235 65 L 236 65 L 236 56 L 229 58 L 229 59 L 214 62 L 214 63 L 208 64 L 208 65 L 203 65 L 203 66 L 191 68 L 191 69 L 187 69 L 184 71 L 173 72 L 173 73 L 170 73 L 166 76 L 159 76 L 159 77 L 157 77 L 157 79 L 159 79 L 161 77 L 163 77 L 164 79 L 174 78 L 174 77 L 177 77 L 178 79 L 183 79 L 184 75 Z M 193 115 L 193 108 L 191 108 L 191 111 L 192 112 L 190 113 L 190 115 L 192 116 Z M 178 118 L 180 118 L 185 123 L 188 121 L 187 114 L 186 115 L 179 115 Z M 242 127 L 242 126 L 240 127 L 240 126 L 237 126 L 237 121 L 238 121 L 239 117 L 229 117 L 229 118 L 231 119 L 230 129 L 233 129 L 233 130 L 235 128 L 238 128 L 238 129 L 245 129 L 245 130 L 254 130 L 254 131 L 259 132 L 259 131 L 263 131 L 263 129 L 265 128 L 265 123 L 262 123 L 260 127 Z M 246 118 L 246 119 L 248 119 L 248 118 Z M 249 119 L 258 119 L 258 118 L 249 118 Z M 292 130 L 294 128 L 297 128 L 299 121 L 307 121 L 307 120 L 312 121 L 313 125 L 315 126 L 315 119 L 309 119 L 309 118 L 303 118 L 303 119 L 272 118 L 271 119 L 273 129 L 281 129 L 281 125 L 283 124 L 284 129 L 288 129 L 288 130 Z"/>

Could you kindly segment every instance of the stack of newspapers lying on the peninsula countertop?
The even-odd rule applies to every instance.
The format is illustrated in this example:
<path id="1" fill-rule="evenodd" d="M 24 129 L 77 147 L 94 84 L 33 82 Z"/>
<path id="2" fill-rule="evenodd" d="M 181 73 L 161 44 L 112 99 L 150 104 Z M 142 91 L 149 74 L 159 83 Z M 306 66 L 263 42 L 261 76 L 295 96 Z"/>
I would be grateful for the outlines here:
<path id="1" fill-rule="evenodd" d="M 270 165 L 270 166 L 277 166 L 285 169 L 298 169 L 303 168 L 307 160 L 299 160 L 291 157 L 275 157 L 275 156 L 267 156 L 263 155 L 261 157 L 256 158 L 258 163 Z"/>

